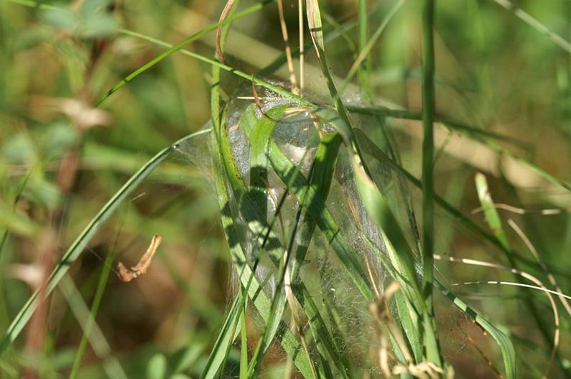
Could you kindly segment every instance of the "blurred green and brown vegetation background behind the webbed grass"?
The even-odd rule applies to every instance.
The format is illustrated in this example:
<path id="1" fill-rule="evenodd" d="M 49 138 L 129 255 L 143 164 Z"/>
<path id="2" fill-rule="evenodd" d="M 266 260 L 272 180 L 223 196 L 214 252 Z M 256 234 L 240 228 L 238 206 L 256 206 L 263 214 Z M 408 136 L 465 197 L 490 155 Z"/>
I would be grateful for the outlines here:
<path id="1" fill-rule="evenodd" d="M 337 23 L 350 26 L 356 19 L 353 0 L 320 3 L 325 34 L 335 31 Z M 210 117 L 210 67 L 182 54 L 173 54 L 93 108 L 114 84 L 164 51 L 118 29 L 175 44 L 216 24 L 224 5 L 185 0 L 41 4 L 0 1 L 0 231 L 6 230 L 0 251 L 2 331 L 42 283 L 46 270 L 126 179 L 161 148 L 201 129 Z M 241 7 L 251 4 L 254 1 L 243 0 Z M 393 4 L 370 1 L 371 31 Z M 562 39 L 571 40 L 571 1 L 514 4 Z M 296 41 L 297 1 L 284 0 L 284 5 L 290 40 Z M 228 62 L 248 73 L 271 63 L 283 52 L 278 22 L 273 3 L 235 21 Z M 341 78 L 355 59 L 348 40 L 354 48 L 354 28 L 327 45 L 331 69 Z M 186 49 L 211 57 L 213 46 L 211 33 Z M 368 62 L 375 98 L 420 110 L 420 49 L 420 5 L 409 0 L 375 44 Z M 562 181 L 571 181 L 568 43 L 567 49 L 558 45 L 496 1 L 439 0 L 435 49 L 440 115 L 516 138 L 521 143 L 503 141 L 500 146 Z M 308 59 L 316 65 L 313 51 Z M 284 80 L 283 72 L 270 77 Z M 225 79 L 228 94 L 248 85 L 231 76 Z M 321 79 L 307 80 L 311 88 Z M 418 122 L 406 121 L 398 126 L 397 136 L 405 166 L 419 175 L 420 140 L 415 131 L 420 131 Z M 477 171 L 489 177 L 497 203 L 564 210 L 556 216 L 531 212 L 506 218 L 514 218 L 525 229 L 562 290 L 571 293 L 570 193 L 445 129 L 438 136 L 445 149 L 438 160 L 437 192 L 482 226 L 481 214 L 470 216 L 478 206 L 473 184 Z M 231 296 L 228 248 L 208 175 L 208 147 L 194 143 L 184 151 L 169 158 L 138 188 L 70 271 L 90 306 L 109 254 L 113 267 L 117 261 L 134 264 L 153 234 L 163 236 L 146 276 L 127 284 L 111 273 L 96 318 L 112 355 L 131 378 L 175 372 L 198 377 Z M 443 217 L 437 227 L 437 253 L 501 261 L 494 251 L 456 231 L 455 221 Z M 510 238 L 525 251 L 512 231 Z M 527 255 L 527 260 L 532 256 Z M 438 265 L 452 282 L 496 277 L 471 266 Z M 540 272 L 533 271 L 535 266 L 528 269 Z M 544 345 L 530 316 L 510 300 L 512 289 L 485 286 L 461 291 L 490 318 Z M 0 358 L 0 376 L 69 375 L 82 331 L 68 303 L 60 290 L 54 292 L 10 354 Z M 443 310 L 444 335 L 447 325 L 458 322 L 455 317 Z M 561 322 L 562 356 L 569 357 L 570 319 L 563 317 Z M 460 350 L 452 361 L 459 377 L 493 376 L 465 336 L 450 335 L 450 339 Z M 535 345 L 531 346 L 533 350 Z M 231 352 L 234 361 L 235 355 Z M 545 357 L 531 351 L 529 359 L 540 366 Z M 88 347 L 79 377 L 97 378 L 103 375 L 101 367 L 102 361 Z M 566 377 L 562 371 L 553 375 Z"/>

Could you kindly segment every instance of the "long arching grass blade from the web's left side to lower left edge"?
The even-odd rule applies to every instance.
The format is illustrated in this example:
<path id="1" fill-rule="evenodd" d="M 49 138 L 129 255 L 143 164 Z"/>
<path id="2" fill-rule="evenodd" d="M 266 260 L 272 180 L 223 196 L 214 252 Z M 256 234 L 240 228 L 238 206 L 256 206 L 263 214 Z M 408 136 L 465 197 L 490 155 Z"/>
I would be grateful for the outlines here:
<path id="1" fill-rule="evenodd" d="M 70 248 L 66 251 L 64 256 L 61 260 L 56 264 L 54 271 L 52 271 L 51 275 L 46 282 L 46 287 L 44 289 L 37 290 L 31 297 L 26 301 L 24 306 L 21 308 L 19 313 L 16 315 L 16 318 L 12 321 L 11 325 L 9 326 L 8 330 L 2 337 L 0 343 L 0 355 L 4 353 L 4 350 L 11 345 L 11 343 L 16 340 L 16 337 L 19 335 L 21 330 L 24 328 L 26 323 L 31 318 L 32 313 L 36 310 L 39 302 L 43 299 L 40 299 L 40 294 L 44 293 L 44 295 L 49 295 L 56 285 L 58 285 L 61 278 L 64 277 L 66 272 L 69 270 L 69 267 L 76 261 L 77 258 L 81 255 L 84 251 L 86 246 L 88 245 L 91 238 L 94 238 L 96 233 L 101 229 L 103 223 L 108 220 L 108 218 L 113 215 L 113 213 L 121 206 L 121 204 L 128 198 L 128 196 L 135 191 L 137 186 L 158 166 L 162 161 L 164 161 L 170 153 L 176 150 L 180 143 L 184 143 L 186 141 L 190 141 L 192 138 L 196 136 L 201 136 L 204 133 L 208 133 L 209 131 L 198 131 L 193 133 L 189 136 L 181 138 L 179 141 L 176 141 L 171 146 L 164 148 L 160 152 L 153 156 L 150 161 L 148 161 L 144 166 L 142 166 L 129 180 L 115 193 L 115 195 L 106 203 L 101 211 L 99 211 L 94 218 L 91 219 L 89 224 L 86 226 L 84 231 L 76 238 L 76 241 L 71 244 Z"/>

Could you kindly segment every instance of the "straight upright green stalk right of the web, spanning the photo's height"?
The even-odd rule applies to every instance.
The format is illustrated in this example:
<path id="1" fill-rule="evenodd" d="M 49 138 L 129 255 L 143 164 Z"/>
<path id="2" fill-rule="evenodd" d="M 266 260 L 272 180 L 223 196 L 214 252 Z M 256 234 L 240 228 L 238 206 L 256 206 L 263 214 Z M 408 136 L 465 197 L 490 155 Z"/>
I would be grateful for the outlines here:
<path id="1" fill-rule="evenodd" d="M 433 308 L 434 276 L 434 0 L 423 6 L 423 298 L 425 302 L 425 355 L 441 365 Z"/>

